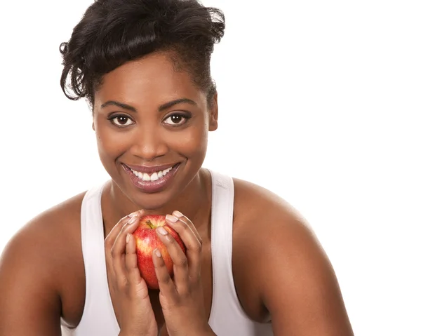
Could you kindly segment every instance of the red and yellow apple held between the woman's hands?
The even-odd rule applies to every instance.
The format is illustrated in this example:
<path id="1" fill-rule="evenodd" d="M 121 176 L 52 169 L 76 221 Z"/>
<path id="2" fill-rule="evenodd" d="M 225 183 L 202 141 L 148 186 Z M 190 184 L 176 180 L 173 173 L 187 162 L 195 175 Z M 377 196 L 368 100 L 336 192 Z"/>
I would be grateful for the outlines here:
<path id="1" fill-rule="evenodd" d="M 152 260 L 152 253 L 154 253 L 156 248 L 161 252 L 168 273 L 171 277 L 174 275 L 173 260 L 171 259 L 166 246 L 162 243 L 156 233 L 157 227 L 166 229 L 166 231 L 173 236 L 178 245 L 180 245 L 182 251 L 186 253 L 185 244 L 182 242 L 178 233 L 172 227 L 168 226 L 165 216 L 145 215 L 140 217 L 138 228 L 133 232 L 133 237 L 136 242 L 136 255 L 138 256 L 140 276 L 145 279 L 147 287 L 150 289 L 159 289 L 154 262 Z"/>

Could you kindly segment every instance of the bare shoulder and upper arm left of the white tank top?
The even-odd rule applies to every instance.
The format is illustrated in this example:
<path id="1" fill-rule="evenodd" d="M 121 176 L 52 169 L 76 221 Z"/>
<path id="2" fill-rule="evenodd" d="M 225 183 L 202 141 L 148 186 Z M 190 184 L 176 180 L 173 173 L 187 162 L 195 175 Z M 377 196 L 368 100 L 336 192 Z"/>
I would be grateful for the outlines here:
<path id="1" fill-rule="evenodd" d="M 64 288 L 79 276 L 76 269 L 83 271 L 83 195 L 36 216 L 6 245 L 0 258 L 1 335 L 12 335 L 11 330 L 13 335 L 60 335 Z"/>

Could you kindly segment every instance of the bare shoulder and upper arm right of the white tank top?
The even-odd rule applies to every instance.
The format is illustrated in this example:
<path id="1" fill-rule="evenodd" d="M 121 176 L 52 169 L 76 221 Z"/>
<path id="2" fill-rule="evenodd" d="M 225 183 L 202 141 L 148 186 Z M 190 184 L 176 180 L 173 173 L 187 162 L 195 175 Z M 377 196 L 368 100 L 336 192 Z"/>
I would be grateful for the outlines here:
<path id="1" fill-rule="evenodd" d="M 233 273 L 244 309 L 275 335 L 352 335 L 335 272 L 309 223 L 281 197 L 234 180 Z M 235 280 L 235 278 L 234 278 Z"/>

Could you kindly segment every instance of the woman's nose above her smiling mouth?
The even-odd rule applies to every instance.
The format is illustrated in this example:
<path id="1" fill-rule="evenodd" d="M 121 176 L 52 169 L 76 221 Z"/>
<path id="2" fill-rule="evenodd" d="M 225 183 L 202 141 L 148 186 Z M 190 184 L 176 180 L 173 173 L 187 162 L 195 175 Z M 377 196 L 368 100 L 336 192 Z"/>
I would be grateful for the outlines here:
<path id="1" fill-rule="evenodd" d="M 133 133 L 131 154 L 145 161 L 152 161 L 156 157 L 168 152 L 168 146 L 163 138 L 160 128 L 142 126 Z"/>

